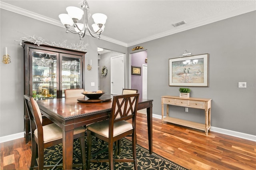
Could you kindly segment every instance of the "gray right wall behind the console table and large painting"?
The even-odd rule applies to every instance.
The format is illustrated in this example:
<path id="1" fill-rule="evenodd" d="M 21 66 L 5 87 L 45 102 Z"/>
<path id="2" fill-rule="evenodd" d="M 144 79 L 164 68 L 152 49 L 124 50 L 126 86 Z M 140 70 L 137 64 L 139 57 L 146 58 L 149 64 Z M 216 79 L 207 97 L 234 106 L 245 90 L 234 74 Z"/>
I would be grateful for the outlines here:
<path id="1" fill-rule="evenodd" d="M 138 44 L 148 50 L 148 98 L 161 115 L 161 96 L 179 95 L 168 85 L 168 59 L 209 53 L 209 87 L 191 87 L 191 97 L 212 99 L 213 127 L 256 135 L 256 12 Z M 128 48 L 132 51 L 134 45 Z M 247 82 L 247 88 L 238 88 Z M 204 123 L 204 111 L 170 107 L 170 115 Z"/>

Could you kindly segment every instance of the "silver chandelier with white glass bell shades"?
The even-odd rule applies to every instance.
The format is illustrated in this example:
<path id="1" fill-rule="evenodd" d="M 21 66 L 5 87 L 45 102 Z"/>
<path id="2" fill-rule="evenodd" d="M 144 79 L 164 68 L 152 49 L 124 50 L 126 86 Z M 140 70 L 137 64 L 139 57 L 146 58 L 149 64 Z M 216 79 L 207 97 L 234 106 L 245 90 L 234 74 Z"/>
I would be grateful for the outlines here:
<path id="1" fill-rule="evenodd" d="M 84 4 L 81 5 L 81 8 L 75 6 L 68 6 L 66 8 L 68 14 L 60 14 L 59 18 L 62 24 L 66 27 L 66 33 L 72 32 L 73 34 L 78 34 L 79 39 L 84 38 L 86 29 L 90 35 L 94 38 L 100 39 L 100 34 L 104 31 L 104 24 L 106 23 L 107 16 L 105 14 L 96 13 L 92 15 L 92 18 L 95 24 L 92 24 L 94 31 L 90 30 L 88 26 L 88 19 L 90 17 L 90 8 L 88 2 L 84 0 Z M 83 17 L 84 15 L 84 17 Z M 79 20 L 83 18 L 83 24 L 78 23 Z M 70 28 L 74 26 L 74 30 Z"/>

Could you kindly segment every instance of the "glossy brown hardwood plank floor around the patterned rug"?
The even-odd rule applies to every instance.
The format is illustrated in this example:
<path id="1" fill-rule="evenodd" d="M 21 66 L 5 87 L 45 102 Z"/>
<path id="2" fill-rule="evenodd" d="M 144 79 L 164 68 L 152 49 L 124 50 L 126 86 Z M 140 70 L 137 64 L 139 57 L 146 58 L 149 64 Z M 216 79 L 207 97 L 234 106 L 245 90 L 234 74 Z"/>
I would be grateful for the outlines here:
<path id="1" fill-rule="evenodd" d="M 148 148 L 146 115 L 137 116 L 137 144 Z M 208 136 L 153 118 L 153 152 L 191 170 L 255 170 L 256 142 L 216 132 Z M 28 170 L 30 142 L 1 143 L 1 170 Z"/>

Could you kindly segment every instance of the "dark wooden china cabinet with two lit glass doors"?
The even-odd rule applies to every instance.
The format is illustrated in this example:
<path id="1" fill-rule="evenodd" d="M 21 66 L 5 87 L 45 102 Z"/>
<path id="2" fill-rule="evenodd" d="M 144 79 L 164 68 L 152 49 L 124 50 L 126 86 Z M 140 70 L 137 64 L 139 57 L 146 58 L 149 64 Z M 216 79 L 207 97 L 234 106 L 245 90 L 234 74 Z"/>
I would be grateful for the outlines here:
<path id="1" fill-rule="evenodd" d="M 85 51 L 36 45 L 23 42 L 24 94 L 35 100 L 65 97 L 65 89 L 84 89 Z M 43 116 L 43 123 L 50 120 Z M 24 108 L 26 143 L 30 136 L 30 121 Z"/>

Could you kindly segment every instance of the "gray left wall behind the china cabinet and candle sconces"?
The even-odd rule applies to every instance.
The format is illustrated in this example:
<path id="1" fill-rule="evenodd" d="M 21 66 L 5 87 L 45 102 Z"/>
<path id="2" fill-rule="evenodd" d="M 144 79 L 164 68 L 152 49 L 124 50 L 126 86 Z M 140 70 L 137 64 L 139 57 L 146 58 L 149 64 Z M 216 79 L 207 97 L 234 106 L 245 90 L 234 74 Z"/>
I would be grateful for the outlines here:
<path id="1" fill-rule="evenodd" d="M 80 43 L 78 35 L 65 33 L 65 29 L 41 22 L 33 18 L 22 16 L 7 10 L 0 10 L 0 136 L 16 134 L 24 130 L 24 64 L 23 48 L 19 45 L 21 37 L 36 36 L 44 40 L 62 43 Z M 127 54 L 127 47 L 115 43 L 98 40 L 91 36 L 82 39 L 88 43 L 86 63 L 92 59 L 92 70 L 85 69 L 84 88 L 92 91 L 98 89 L 98 51 L 97 47 L 115 49 Z M 8 47 L 8 54 L 12 63 L 2 63 L 2 56 L 5 54 L 5 47 Z M 91 82 L 95 86 L 91 86 Z"/>

